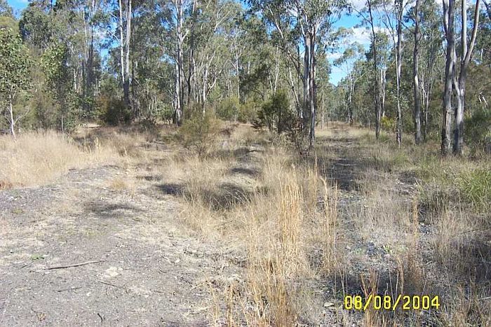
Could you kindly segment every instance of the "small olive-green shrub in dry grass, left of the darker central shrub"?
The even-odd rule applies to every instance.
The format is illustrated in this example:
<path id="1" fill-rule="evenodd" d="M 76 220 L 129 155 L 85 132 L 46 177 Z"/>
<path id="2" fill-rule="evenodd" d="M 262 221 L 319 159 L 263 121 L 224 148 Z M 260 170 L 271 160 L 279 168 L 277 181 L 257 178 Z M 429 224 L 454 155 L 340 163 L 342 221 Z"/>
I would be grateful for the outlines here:
<path id="1" fill-rule="evenodd" d="M 199 111 L 184 120 L 179 129 L 178 137 L 182 139 L 185 147 L 196 147 L 199 156 L 207 155 L 214 141 L 220 134 L 222 124 L 212 113 L 204 116 Z"/>

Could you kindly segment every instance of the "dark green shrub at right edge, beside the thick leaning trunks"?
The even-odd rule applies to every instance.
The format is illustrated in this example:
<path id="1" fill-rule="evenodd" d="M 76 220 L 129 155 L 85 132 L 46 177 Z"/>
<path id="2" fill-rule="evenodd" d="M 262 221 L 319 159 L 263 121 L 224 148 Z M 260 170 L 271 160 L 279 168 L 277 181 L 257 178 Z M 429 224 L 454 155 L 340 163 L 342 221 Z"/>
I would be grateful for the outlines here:
<path id="1" fill-rule="evenodd" d="M 491 110 L 480 108 L 465 119 L 466 138 L 475 150 L 491 152 Z"/>

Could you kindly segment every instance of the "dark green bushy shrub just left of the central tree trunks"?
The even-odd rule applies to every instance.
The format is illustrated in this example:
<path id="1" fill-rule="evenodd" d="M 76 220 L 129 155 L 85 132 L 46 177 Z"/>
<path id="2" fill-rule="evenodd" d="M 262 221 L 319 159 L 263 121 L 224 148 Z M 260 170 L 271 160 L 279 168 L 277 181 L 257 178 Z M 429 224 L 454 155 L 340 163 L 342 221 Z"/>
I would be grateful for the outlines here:
<path id="1" fill-rule="evenodd" d="M 279 90 L 267 102 L 265 102 L 257 113 L 255 127 L 268 127 L 278 134 L 288 132 L 292 129 L 294 115 L 290 110 L 290 101 L 285 91 Z"/>

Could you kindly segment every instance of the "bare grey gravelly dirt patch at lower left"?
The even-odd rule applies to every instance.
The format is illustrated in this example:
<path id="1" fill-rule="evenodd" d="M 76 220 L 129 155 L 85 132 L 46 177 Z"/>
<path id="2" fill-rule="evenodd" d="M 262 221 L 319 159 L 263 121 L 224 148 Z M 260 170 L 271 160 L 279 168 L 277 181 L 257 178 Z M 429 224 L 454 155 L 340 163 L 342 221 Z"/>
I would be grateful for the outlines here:
<path id="1" fill-rule="evenodd" d="M 185 235 L 179 205 L 119 167 L 0 191 L 0 326 L 206 326 L 226 250 Z M 65 267 L 75 265 L 74 267 Z"/>

